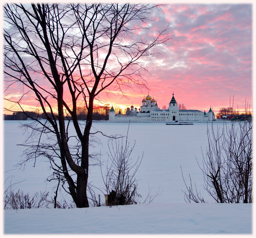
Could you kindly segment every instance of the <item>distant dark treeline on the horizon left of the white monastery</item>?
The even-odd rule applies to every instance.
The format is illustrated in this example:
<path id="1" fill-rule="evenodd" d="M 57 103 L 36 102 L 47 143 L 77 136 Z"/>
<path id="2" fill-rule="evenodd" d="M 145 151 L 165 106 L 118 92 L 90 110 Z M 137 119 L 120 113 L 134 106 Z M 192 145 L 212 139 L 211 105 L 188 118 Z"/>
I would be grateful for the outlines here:
<path id="1" fill-rule="evenodd" d="M 93 120 L 108 120 L 108 112 L 110 111 L 110 106 L 105 105 L 105 106 L 94 106 L 93 107 Z M 44 113 L 39 113 L 39 112 L 35 112 L 35 111 L 18 111 L 18 112 L 13 112 L 13 114 L 8 115 L 8 114 L 4 114 L 4 120 L 11 120 L 11 121 L 24 121 L 24 120 L 28 120 L 28 118 L 42 118 L 42 119 L 46 119 L 46 115 Z M 51 119 L 55 118 L 56 120 L 58 120 L 58 116 L 57 114 L 51 114 L 51 113 L 47 113 L 47 116 L 49 116 Z M 87 118 L 87 108 L 85 107 L 78 107 L 77 108 L 77 118 L 79 120 L 86 120 Z M 66 119 L 67 120 L 71 120 L 71 116 L 70 115 L 66 115 Z"/>

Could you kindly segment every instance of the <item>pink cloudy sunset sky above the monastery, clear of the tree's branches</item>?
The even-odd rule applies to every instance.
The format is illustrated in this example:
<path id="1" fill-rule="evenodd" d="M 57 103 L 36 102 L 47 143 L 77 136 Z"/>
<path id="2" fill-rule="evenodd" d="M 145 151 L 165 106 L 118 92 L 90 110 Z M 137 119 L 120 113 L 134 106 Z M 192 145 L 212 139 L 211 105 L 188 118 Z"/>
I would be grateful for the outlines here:
<path id="1" fill-rule="evenodd" d="M 235 108 L 242 111 L 245 100 L 252 108 L 251 4 L 171 4 L 151 18 L 152 32 L 170 23 L 173 37 L 158 46 L 158 58 L 152 62 L 143 59 L 150 73 L 144 77 L 149 95 L 160 108 L 168 107 L 173 92 L 177 103 L 184 103 L 187 109 L 208 111 L 211 106 L 217 113 L 220 107 L 230 105 L 233 96 Z M 141 35 L 133 37 L 139 40 Z M 143 40 L 147 37 L 144 34 Z M 9 90 L 12 96 L 20 92 L 17 87 Z M 147 89 L 135 86 L 123 91 L 128 99 L 116 91 L 101 94 L 100 99 L 110 105 L 138 108 L 148 95 Z M 28 110 L 35 105 L 32 99 L 25 104 Z"/>

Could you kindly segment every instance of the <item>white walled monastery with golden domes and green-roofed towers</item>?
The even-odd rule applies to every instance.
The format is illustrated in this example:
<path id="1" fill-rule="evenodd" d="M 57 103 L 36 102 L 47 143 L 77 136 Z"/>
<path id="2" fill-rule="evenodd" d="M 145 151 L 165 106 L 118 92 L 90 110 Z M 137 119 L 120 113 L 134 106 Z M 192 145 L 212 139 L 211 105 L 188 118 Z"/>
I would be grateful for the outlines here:
<path id="1" fill-rule="evenodd" d="M 147 96 L 142 100 L 142 106 L 139 109 L 127 108 L 125 115 L 120 110 L 116 114 L 113 106 L 109 111 L 110 121 L 213 121 L 215 120 L 214 112 L 211 107 L 208 112 L 199 110 L 180 110 L 178 104 L 172 94 L 168 109 L 160 109 L 156 100 L 151 96 Z"/>

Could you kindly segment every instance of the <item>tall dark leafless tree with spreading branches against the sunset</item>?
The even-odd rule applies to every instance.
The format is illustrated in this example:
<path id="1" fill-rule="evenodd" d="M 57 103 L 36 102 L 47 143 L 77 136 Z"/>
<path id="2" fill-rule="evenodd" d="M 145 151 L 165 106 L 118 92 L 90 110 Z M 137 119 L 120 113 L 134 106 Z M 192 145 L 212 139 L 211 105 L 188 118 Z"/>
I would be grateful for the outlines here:
<path id="1" fill-rule="evenodd" d="M 168 27 L 151 40 L 132 40 L 157 6 L 152 4 L 5 4 L 4 74 L 7 94 L 20 87 L 18 105 L 35 98 L 45 121 L 26 124 L 32 129 L 28 160 L 49 159 L 77 207 L 88 207 L 87 183 L 93 103 L 109 86 L 122 94 L 122 86 L 146 87 L 142 57 L 156 56 L 155 46 L 165 43 Z M 135 22 L 136 24 L 133 24 Z M 135 27 L 136 25 L 136 27 Z M 146 24 L 144 24 L 146 25 Z M 15 95 L 16 96 L 16 95 Z M 77 118 L 77 105 L 85 102 L 86 123 Z M 12 111 L 12 108 L 6 108 Z M 26 113 L 25 113 L 26 114 Z M 66 120 L 68 119 L 68 122 Z M 70 123 L 70 120 L 72 123 Z M 70 127 L 75 134 L 71 134 Z M 93 134 L 94 135 L 94 134 Z M 65 187 L 67 184 L 67 187 Z"/>

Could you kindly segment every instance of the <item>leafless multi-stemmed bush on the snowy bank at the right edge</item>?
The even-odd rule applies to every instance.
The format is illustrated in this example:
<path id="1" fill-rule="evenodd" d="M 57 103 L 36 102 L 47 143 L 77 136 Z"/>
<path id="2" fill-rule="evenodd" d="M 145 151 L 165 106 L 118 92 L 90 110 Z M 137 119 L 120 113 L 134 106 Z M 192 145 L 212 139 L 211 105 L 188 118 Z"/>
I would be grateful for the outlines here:
<path id="1" fill-rule="evenodd" d="M 216 130 L 212 125 L 207 135 L 208 148 L 200 166 L 205 190 L 218 203 L 251 203 L 252 122 L 230 122 Z M 193 190 L 191 179 L 186 188 L 186 201 L 205 202 L 196 186 Z"/>

